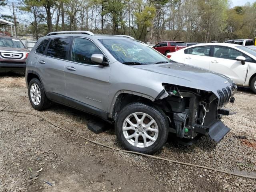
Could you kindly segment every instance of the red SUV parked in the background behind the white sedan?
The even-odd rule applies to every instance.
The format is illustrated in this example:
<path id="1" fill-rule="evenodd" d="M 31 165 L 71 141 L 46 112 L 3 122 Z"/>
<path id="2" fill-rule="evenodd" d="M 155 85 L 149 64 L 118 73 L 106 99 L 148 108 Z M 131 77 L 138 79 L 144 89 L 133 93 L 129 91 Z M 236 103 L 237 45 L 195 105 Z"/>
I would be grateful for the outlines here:
<path id="1" fill-rule="evenodd" d="M 178 51 L 185 47 L 186 44 L 183 41 L 163 41 L 156 44 L 153 48 L 167 56 L 168 53 Z"/>

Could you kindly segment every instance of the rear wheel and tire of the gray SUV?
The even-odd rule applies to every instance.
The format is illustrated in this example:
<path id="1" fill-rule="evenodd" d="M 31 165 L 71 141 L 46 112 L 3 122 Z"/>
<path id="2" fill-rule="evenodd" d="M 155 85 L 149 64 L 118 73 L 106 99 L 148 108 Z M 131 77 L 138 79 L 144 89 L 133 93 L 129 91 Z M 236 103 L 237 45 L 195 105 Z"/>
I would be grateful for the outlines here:
<path id="1" fill-rule="evenodd" d="M 51 104 L 44 93 L 41 82 L 37 78 L 32 78 L 28 84 L 28 97 L 32 107 L 38 111 L 48 108 Z"/>

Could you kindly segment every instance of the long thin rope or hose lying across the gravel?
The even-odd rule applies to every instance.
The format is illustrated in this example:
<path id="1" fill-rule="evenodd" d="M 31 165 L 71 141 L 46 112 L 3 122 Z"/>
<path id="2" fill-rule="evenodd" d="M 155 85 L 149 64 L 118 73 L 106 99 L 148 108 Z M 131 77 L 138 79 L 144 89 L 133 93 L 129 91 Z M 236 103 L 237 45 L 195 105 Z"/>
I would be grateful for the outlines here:
<path id="1" fill-rule="evenodd" d="M 4 96 L 0 96 L 0 97 L 4 97 Z M 6 97 L 5 97 L 6 98 Z M 182 164 L 182 165 L 186 165 L 186 166 L 194 166 L 194 167 L 198 167 L 198 168 L 203 168 L 203 169 L 208 169 L 208 170 L 213 170 L 213 171 L 216 171 L 216 172 L 221 172 L 221 173 L 226 173 L 226 174 L 230 174 L 230 175 L 234 175 L 234 176 L 238 176 L 238 177 L 244 177 L 244 178 L 250 178 L 250 179 L 256 179 L 256 177 L 254 176 L 247 176 L 247 175 L 241 175 L 241 174 L 236 174 L 236 173 L 232 173 L 232 172 L 228 172 L 228 171 L 223 171 L 223 170 L 219 170 L 219 169 L 215 169 L 215 168 L 211 168 L 211 167 L 206 167 L 206 166 L 201 166 L 201 165 L 196 165 L 196 164 L 191 164 L 191 163 L 185 163 L 185 162 L 180 162 L 180 161 L 176 161 L 176 160 L 170 160 L 170 159 L 166 159 L 166 158 L 162 158 L 162 157 L 157 157 L 157 156 L 153 156 L 153 155 L 148 155 L 148 154 L 144 154 L 144 153 L 139 153 L 139 152 L 134 152 L 134 151 L 127 151 L 127 150 L 122 150 L 122 149 L 118 149 L 118 148 L 114 148 L 114 147 L 111 147 L 111 146 L 108 146 L 108 145 L 105 145 L 105 144 L 102 144 L 102 143 L 99 143 L 99 142 L 96 142 L 96 141 L 93 141 L 93 140 L 90 140 L 88 138 L 85 138 L 83 136 L 80 136 L 78 134 L 75 134 L 69 130 L 66 130 L 65 128 L 62 128 L 56 124 L 54 124 L 53 122 L 51 122 L 50 120 L 44 118 L 42 115 L 40 114 L 37 114 L 37 113 L 34 113 L 34 112 L 26 112 L 26 111 L 12 111 L 12 110 L 4 110 L 9 104 L 9 100 L 8 100 L 8 103 L 6 104 L 6 106 L 4 108 L 2 108 L 0 110 L 0 112 L 9 112 L 9 113 L 23 113 L 23 114 L 30 114 L 30 115 L 34 115 L 34 116 L 38 116 L 40 118 L 42 118 L 43 120 L 45 120 L 46 122 L 52 124 L 53 126 L 56 126 L 57 128 L 60 128 L 61 130 L 64 130 L 70 134 L 73 134 L 75 136 L 78 136 L 80 138 L 83 138 L 84 140 L 87 140 L 89 142 L 92 142 L 96 145 L 100 145 L 100 146 L 103 146 L 103 147 L 106 147 L 106 148 L 110 148 L 112 150 L 116 150 L 116 151 L 120 151 L 120 152 L 124 152 L 124 153 L 130 153 L 130 154 L 137 154 L 137 155 L 140 155 L 140 156 L 145 156 L 145 157 L 149 157 L 149 158 L 154 158 L 154 159 L 159 159 L 159 160 L 163 160 L 163 161 L 168 161 L 168 162 L 172 162 L 172 163 L 176 163 L 176 164 Z"/>

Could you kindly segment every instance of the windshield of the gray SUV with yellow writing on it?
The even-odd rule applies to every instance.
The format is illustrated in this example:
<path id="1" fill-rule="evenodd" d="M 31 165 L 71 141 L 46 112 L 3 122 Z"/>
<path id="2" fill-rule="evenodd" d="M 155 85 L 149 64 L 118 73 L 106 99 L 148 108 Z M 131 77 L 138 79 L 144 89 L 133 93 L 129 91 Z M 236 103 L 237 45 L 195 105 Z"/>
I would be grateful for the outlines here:
<path id="1" fill-rule="evenodd" d="M 164 55 L 136 40 L 99 39 L 99 41 L 116 60 L 123 64 L 148 65 L 170 62 Z"/>

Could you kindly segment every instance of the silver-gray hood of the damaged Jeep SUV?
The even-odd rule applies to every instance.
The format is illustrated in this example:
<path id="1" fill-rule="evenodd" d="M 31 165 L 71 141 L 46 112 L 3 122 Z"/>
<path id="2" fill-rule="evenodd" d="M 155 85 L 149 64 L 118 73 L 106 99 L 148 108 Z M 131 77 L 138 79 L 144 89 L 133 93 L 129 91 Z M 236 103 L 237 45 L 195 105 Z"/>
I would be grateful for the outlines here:
<path id="1" fill-rule="evenodd" d="M 217 90 L 222 90 L 222 88 L 231 86 L 233 83 L 230 78 L 222 74 L 181 63 L 136 65 L 132 67 L 150 71 L 157 76 L 160 75 L 159 78 L 162 79 L 162 83 L 211 91 L 215 95 L 218 95 Z"/>

